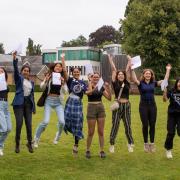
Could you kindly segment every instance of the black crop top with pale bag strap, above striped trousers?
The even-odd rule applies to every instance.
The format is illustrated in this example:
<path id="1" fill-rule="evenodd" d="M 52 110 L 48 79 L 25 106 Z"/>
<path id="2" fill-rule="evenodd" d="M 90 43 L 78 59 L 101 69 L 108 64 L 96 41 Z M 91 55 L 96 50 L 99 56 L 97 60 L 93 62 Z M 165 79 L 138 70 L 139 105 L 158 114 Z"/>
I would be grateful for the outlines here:
<path id="1" fill-rule="evenodd" d="M 122 84 L 123 84 L 123 82 L 120 82 L 118 80 L 116 80 L 115 82 L 112 81 L 112 85 L 113 85 L 114 94 L 115 94 L 116 99 L 119 96 L 119 92 L 120 92 L 120 89 L 122 88 Z M 120 98 L 129 99 L 129 89 L 130 89 L 130 84 L 129 84 L 129 82 L 127 80 L 125 80 L 124 81 L 123 91 L 122 91 L 122 94 L 121 94 Z"/>

